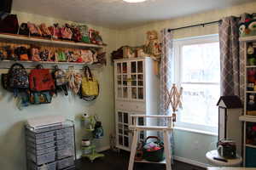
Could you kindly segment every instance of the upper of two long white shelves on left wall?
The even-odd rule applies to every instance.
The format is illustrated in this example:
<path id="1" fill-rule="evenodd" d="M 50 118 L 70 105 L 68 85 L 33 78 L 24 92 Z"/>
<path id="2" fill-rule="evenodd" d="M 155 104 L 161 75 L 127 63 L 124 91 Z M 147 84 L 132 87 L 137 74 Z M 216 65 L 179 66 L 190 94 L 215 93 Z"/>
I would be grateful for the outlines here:
<path id="1" fill-rule="evenodd" d="M 0 34 L 0 40 L 4 40 L 7 42 L 25 42 L 25 43 L 44 43 L 44 44 L 51 44 L 51 45 L 59 45 L 59 46 L 69 46 L 69 47 L 80 47 L 80 48 L 104 48 L 107 46 L 106 44 L 97 45 L 93 43 L 85 43 L 85 42 L 72 42 L 72 41 L 65 41 L 65 40 L 54 40 L 54 39 L 46 39 L 44 37 L 27 37 L 22 35 L 15 35 L 15 34 Z"/>

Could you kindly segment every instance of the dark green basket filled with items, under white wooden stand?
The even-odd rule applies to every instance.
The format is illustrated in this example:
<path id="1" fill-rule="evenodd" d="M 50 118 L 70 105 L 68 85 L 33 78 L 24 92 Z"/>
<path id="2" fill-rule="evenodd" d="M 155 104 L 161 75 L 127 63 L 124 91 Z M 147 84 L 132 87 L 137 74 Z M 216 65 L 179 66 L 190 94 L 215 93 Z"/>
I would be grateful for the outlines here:
<path id="1" fill-rule="evenodd" d="M 147 143 L 148 139 L 156 139 L 154 142 Z M 143 158 L 147 161 L 163 161 L 164 144 L 157 136 L 148 136 L 143 143 Z"/>

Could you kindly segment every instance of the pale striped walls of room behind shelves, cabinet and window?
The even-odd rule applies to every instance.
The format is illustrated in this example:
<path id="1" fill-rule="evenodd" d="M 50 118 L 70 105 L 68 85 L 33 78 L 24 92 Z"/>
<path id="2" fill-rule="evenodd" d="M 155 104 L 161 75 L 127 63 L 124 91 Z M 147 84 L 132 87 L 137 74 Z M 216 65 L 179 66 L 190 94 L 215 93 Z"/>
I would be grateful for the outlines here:
<path id="1" fill-rule="evenodd" d="M 59 95 L 53 100 L 51 105 L 32 106 L 19 111 L 11 98 L 10 94 L 6 94 L 3 88 L 0 88 L 0 169 L 4 170 L 25 170 L 25 139 L 23 125 L 27 118 L 35 116 L 61 114 L 72 119 L 76 123 L 77 146 L 79 151 L 80 139 L 84 135 L 81 128 L 79 116 L 84 112 L 96 112 L 103 123 L 105 137 L 98 142 L 98 148 L 108 147 L 109 133 L 114 131 L 114 107 L 113 107 L 113 64 L 111 63 L 110 53 L 122 45 L 141 45 L 145 42 L 146 31 L 157 30 L 163 28 L 176 28 L 180 26 L 189 26 L 219 20 L 224 16 L 239 15 L 244 12 L 256 12 L 256 3 L 247 3 L 240 6 L 226 8 L 222 10 L 212 10 L 203 14 L 193 14 L 173 20 L 164 20 L 150 23 L 145 26 L 138 26 L 125 30 L 114 30 L 103 28 L 101 26 L 91 26 L 101 31 L 104 42 L 108 43 L 108 65 L 102 69 L 95 70 L 98 80 L 101 84 L 101 94 L 96 102 L 88 103 L 76 97 Z M 45 22 L 60 24 L 70 22 L 55 18 L 44 17 L 38 14 L 27 14 L 14 11 L 18 14 L 19 21 L 32 21 L 35 23 Z M 218 26 L 195 27 L 180 31 L 175 31 L 174 37 L 192 37 L 218 33 Z M 188 132 L 175 131 L 175 138 L 178 140 L 175 145 L 175 156 L 192 160 L 195 162 L 207 163 L 205 153 L 211 147 L 212 142 L 216 142 L 217 138 L 206 136 L 204 134 L 195 134 Z M 199 150 L 200 148 L 200 150 Z"/>

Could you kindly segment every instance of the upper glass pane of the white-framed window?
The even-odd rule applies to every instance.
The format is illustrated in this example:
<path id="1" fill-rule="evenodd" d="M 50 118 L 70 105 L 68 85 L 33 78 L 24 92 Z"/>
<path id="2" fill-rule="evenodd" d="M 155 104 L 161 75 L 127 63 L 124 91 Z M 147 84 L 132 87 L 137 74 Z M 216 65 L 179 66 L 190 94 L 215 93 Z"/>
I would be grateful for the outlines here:
<path id="1" fill-rule="evenodd" d="M 219 82 L 219 42 L 182 47 L 182 82 Z"/>

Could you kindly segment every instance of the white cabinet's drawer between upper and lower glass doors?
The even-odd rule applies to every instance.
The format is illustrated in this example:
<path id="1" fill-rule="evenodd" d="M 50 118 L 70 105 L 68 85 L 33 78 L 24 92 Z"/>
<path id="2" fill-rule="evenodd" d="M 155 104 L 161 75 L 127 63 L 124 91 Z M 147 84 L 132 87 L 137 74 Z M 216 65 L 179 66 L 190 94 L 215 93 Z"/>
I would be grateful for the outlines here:
<path id="1" fill-rule="evenodd" d="M 116 109 L 121 111 L 146 111 L 146 104 L 142 102 L 116 102 Z"/>

